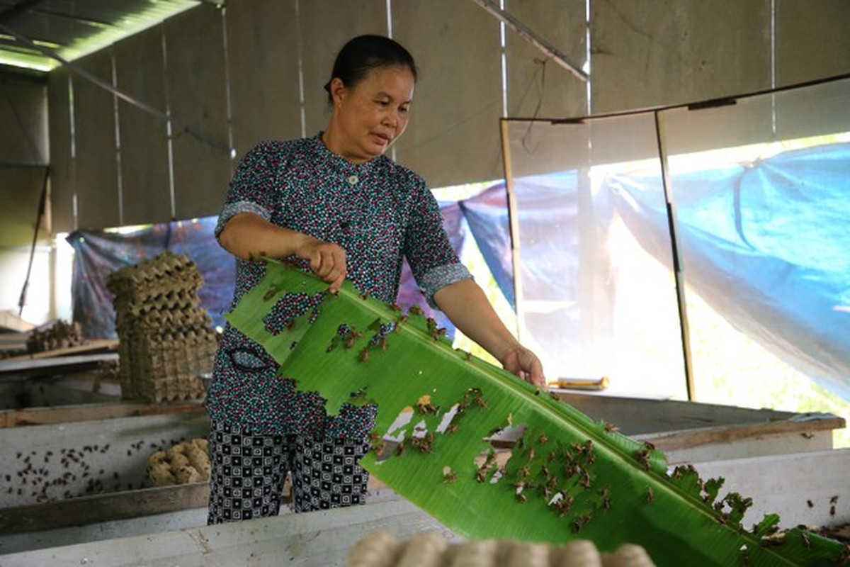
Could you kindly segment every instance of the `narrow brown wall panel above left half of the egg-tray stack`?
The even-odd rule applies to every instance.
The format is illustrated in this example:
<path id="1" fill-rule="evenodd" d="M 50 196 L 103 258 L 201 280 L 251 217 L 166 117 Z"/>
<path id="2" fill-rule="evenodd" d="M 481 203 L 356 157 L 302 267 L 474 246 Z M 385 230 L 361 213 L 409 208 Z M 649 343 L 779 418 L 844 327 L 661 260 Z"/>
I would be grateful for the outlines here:
<path id="1" fill-rule="evenodd" d="M 166 109 L 162 28 L 152 27 L 115 46 L 117 87 L 158 111 Z M 166 122 L 121 101 L 123 224 L 159 223 L 172 218 Z"/>

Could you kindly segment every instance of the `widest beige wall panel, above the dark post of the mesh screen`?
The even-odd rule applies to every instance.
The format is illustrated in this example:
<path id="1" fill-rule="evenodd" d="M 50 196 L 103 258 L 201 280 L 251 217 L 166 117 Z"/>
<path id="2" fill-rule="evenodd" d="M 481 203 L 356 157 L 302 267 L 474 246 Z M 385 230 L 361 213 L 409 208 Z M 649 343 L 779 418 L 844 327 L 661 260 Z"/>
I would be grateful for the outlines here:
<path id="1" fill-rule="evenodd" d="M 769 0 L 591 2 L 592 113 L 770 88 Z"/>

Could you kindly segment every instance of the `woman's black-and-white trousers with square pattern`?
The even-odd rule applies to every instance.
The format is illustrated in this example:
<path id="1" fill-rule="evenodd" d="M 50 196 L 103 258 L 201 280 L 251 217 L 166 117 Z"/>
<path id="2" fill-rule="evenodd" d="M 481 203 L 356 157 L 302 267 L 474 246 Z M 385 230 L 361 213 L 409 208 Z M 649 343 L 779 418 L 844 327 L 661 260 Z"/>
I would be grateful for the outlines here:
<path id="1" fill-rule="evenodd" d="M 207 524 L 277 515 L 286 473 L 295 512 L 365 504 L 369 473 L 359 462 L 366 451 L 368 440 L 258 435 L 212 422 Z"/>

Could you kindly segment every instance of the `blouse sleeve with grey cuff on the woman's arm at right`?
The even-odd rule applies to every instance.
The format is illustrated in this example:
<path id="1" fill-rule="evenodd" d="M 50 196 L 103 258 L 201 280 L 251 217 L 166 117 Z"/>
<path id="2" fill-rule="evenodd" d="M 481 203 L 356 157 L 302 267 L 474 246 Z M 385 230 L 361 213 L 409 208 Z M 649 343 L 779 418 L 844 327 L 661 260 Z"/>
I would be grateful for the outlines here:
<path id="1" fill-rule="evenodd" d="M 424 182 L 416 184 L 405 235 L 405 257 L 428 305 L 439 309 L 433 294 L 457 281 L 472 279 L 443 228 L 437 200 Z"/>

